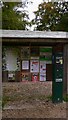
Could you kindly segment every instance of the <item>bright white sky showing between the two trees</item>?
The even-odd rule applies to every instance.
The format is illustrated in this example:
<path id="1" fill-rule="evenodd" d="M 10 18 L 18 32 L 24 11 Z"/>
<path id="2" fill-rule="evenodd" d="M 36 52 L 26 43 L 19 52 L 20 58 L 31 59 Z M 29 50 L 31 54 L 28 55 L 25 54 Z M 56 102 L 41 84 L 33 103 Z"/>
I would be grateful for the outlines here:
<path id="1" fill-rule="evenodd" d="M 26 7 L 24 7 L 24 10 L 28 11 L 28 15 L 29 15 L 29 21 L 31 21 L 32 19 L 35 18 L 35 14 L 33 13 L 34 11 L 38 10 L 38 5 L 43 3 L 44 1 L 51 1 L 51 0 L 22 0 L 22 3 L 25 5 Z M 31 3 L 32 2 L 32 3 Z M 22 8 L 18 8 L 18 10 L 23 10 Z M 27 29 L 32 30 L 34 29 L 35 25 L 29 27 L 27 26 Z"/>

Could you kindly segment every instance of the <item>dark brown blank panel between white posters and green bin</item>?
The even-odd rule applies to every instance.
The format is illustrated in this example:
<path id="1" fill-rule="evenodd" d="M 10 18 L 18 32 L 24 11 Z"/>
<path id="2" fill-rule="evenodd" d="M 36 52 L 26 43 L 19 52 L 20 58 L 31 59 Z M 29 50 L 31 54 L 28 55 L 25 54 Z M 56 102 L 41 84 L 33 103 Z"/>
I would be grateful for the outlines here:
<path id="1" fill-rule="evenodd" d="M 46 64 L 46 80 L 52 81 L 52 64 Z"/>

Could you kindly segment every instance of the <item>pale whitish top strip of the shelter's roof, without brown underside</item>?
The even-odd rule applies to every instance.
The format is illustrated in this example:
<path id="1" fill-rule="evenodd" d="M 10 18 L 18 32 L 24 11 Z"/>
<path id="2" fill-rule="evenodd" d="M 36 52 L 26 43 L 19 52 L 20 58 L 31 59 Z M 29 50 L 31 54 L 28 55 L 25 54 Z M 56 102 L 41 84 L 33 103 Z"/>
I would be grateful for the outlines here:
<path id="1" fill-rule="evenodd" d="M 24 30 L 0 30 L 3 38 L 68 38 L 68 32 L 24 31 Z"/>

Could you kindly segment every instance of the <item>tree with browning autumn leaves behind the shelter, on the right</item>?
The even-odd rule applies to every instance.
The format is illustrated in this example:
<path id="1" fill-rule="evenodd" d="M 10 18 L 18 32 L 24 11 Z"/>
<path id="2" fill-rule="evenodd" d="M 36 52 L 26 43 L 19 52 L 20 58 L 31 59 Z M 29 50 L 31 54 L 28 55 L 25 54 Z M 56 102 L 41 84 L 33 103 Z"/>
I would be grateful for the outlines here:
<path id="1" fill-rule="evenodd" d="M 35 30 L 56 31 L 62 30 L 62 25 L 67 26 L 68 2 L 44 2 L 35 11 L 35 19 L 32 23 L 36 25 Z M 64 21 L 64 22 L 63 22 Z M 64 27 L 65 28 L 65 27 Z M 63 29 L 67 31 L 67 29 Z"/>

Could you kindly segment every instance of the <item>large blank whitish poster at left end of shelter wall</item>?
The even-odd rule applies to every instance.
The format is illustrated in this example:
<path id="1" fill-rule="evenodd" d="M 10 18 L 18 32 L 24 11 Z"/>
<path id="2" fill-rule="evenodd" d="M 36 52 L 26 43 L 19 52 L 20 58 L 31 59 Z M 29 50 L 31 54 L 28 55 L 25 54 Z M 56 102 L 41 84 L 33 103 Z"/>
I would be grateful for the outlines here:
<path id="1" fill-rule="evenodd" d="M 6 50 L 6 67 L 8 71 L 17 70 L 17 57 L 18 53 L 16 52 L 16 49 L 8 47 Z"/>

